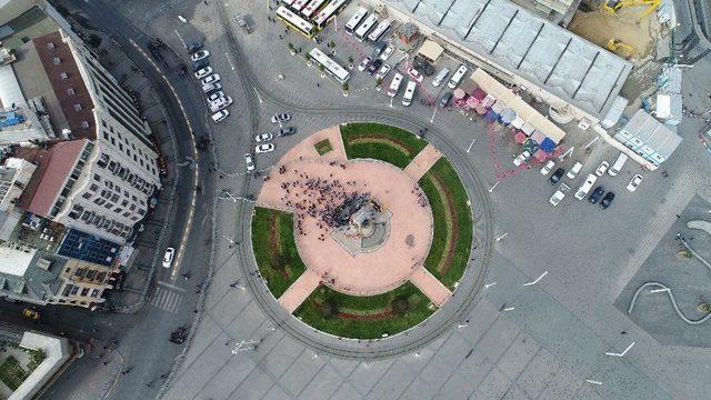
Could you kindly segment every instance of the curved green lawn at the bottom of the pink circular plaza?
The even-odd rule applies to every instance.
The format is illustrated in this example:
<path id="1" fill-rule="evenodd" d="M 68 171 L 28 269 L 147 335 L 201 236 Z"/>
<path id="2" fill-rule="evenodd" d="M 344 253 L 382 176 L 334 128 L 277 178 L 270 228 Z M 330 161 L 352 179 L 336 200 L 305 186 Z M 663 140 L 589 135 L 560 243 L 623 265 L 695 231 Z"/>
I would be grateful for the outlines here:
<path id="1" fill-rule="evenodd" d="M 353 339 L 378 339 L 417 326 L 431 316 L 430 299 L 414 284 L 377 296 L 350 296 L 320 286 L 293 314 L 327 333 Z"/>

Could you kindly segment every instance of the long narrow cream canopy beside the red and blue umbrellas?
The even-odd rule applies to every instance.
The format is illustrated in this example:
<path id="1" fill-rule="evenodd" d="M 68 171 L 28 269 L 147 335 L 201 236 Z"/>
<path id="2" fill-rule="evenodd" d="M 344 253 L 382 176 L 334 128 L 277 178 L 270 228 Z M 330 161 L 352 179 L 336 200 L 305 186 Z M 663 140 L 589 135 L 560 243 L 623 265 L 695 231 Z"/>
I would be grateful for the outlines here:
<path id="1" fill-rule="evenodd" d="M 558 128 L 558 126 L 543 117 L 529 103 L 523 101 L 523 99 L 515 96 L 511 90 L 501 84 L 489 73 L 484 72 L 481 68 L 477 68 L 477 70 L 472 72 L 471 79 L 477 82 L 479 88 L 489 93 L 488 97 L 493 96 L 497 100 L 513 109 L 522 120 L 529 122 L 535 127 L 535 129 L 545 132 L 545 136 L 551 138 L 553 142 L 560 143 L 560 141 L 565 137 L 565 132 L 562 129 Z"/>

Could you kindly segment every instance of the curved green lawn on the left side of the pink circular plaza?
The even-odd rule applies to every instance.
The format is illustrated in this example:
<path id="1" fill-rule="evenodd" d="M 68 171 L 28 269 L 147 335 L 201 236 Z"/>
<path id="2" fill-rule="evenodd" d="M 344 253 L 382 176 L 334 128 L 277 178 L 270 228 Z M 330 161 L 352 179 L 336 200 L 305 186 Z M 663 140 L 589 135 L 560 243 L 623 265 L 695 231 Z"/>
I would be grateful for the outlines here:
<path id="1" fill-rule="evenodd" d="M 257 207 L 252 247 L 259 271 L 277 299 L 306 271 L 293 238 L 290 213 Z"/>

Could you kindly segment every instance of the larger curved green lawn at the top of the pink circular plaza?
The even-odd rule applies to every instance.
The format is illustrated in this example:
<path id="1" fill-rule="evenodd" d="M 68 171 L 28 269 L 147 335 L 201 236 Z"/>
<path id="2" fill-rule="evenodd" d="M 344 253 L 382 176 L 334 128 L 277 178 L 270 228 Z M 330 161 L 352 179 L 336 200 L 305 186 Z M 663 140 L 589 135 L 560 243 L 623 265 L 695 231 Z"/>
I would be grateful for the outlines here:
<path id="1" fill-rule="evenodd" d="M 349 159 L 371 158 L 405 168 L 427 146 L 411 132 L 381 123 L 356 122 L 341 126 Z"/>

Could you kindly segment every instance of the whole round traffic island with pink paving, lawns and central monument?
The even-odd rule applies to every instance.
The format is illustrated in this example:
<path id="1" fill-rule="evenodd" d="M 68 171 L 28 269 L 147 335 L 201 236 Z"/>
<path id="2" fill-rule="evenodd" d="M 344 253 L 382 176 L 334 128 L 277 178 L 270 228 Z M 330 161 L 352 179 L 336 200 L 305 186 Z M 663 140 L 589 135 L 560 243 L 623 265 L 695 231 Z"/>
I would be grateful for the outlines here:
<path id="1" fill-rule="evenodd" d="M 392 352 L 451 324 L 464 311 L 455 293 L 480 283 L 471 204 L 449 160 L 400 128 L 349 123 L 303 139 L 264 177 L 252 213 L 277 322 L 342 356 Z"/>

